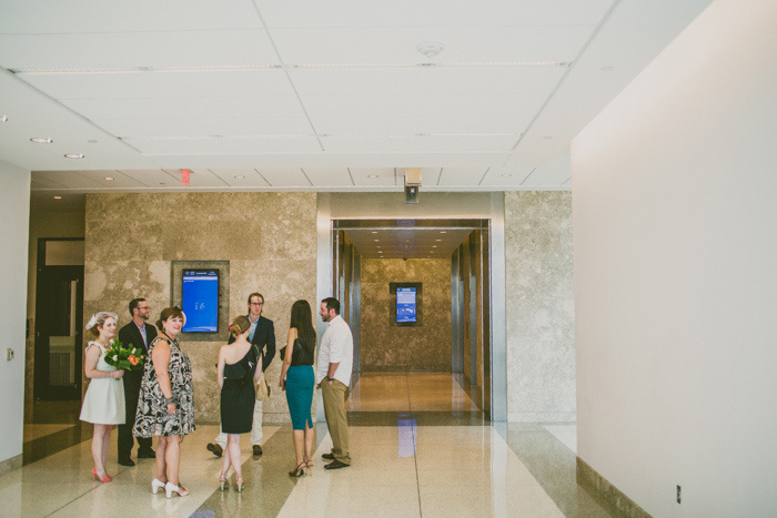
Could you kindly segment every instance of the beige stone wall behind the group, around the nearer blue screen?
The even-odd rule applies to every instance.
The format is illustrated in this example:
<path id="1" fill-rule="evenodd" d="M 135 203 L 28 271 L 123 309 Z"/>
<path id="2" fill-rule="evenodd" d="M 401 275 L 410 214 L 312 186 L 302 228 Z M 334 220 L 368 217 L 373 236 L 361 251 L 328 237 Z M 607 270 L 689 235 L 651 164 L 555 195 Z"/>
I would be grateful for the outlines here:
<path id="1" fill-rule="evenodd" d="M 170 305 L 172 261 L 229 261 L 230 316 L 246 313 L 251 292 L 264 295 L 263 315 L 285 344 L 294 301 L 315 304 L 315 193 L 89 194 L 85 219 L 84 319 L 143 296 L 155 321 Z M 315 315 L 313 315 L 315 316 Z M 221 342 L 185 342 L 194 375 L 198 423 L 218 423 L 214 364 Z M 281 362 L 268 369 L 278 385 Z M 264 403 L 266 423 L 285 423 L 284 394 Z"/>

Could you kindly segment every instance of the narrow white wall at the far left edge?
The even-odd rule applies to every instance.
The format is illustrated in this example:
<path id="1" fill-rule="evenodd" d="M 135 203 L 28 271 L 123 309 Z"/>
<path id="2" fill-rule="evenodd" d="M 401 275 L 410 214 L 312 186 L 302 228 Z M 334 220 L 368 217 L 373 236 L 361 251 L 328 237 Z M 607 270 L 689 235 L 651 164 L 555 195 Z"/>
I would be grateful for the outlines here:
<path id="1" fill-rule="evenodd" d="M 0 463 L 21 455 L 29 217 L 30 172 L 0 161 Z"/>

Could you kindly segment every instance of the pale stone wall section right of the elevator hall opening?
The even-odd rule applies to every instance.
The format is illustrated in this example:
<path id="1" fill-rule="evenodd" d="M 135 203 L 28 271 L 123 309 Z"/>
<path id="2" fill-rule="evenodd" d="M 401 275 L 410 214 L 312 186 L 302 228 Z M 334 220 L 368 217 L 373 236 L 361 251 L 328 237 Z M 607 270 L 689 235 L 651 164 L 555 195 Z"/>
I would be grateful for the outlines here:
<path id="1" fill-rule="evenodd" d="M 572 193 L 505 193 L 507 417 L 575 420 Z"/>

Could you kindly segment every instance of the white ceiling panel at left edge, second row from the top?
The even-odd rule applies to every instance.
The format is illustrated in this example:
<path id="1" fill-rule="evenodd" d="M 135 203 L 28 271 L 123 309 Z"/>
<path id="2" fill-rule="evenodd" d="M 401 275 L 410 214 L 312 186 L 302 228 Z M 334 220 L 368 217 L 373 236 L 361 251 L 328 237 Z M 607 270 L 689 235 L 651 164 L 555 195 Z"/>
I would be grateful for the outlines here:
<path id="1" fill-rule="evenodd" d="M 97 29 L 97 28 L 95 28 Z M 263 30 L 0 34 L 6 69 L 278 64 Z"/>

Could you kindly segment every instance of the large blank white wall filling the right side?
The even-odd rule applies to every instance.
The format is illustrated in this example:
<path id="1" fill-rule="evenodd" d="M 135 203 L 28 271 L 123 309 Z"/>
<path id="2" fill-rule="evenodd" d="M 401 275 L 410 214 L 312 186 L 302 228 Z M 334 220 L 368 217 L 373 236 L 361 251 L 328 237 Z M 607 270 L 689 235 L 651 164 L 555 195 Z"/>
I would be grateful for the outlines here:
<path id="1" fill-rule="evenodd" d="M 578 455 L 653 516 L 777 512 L 776 34 L 717 0 L 573 142 Z"/>

